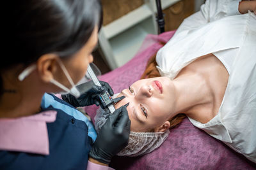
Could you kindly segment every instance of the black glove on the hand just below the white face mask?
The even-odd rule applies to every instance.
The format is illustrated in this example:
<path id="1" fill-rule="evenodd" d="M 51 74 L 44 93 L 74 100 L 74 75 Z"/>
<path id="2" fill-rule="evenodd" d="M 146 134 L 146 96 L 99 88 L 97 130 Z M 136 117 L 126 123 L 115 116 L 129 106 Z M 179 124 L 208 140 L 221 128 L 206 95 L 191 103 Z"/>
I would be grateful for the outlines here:
<path id="1" fill-rule="evenodd" d="M 111 89 L 110 85 L 105 81 L 100 81 L 100 85 L 102 85 L 102 87 L 94 85 L 92 81 L 88 81 L 81 85 L 77 85 L 77 89 L 79 89 L 79 87 L 83 87 L 86 85 L 92 87 L 92 89 L 88 90 L 87 92 L 84 92 L 78 98 L 72 96 L 72 94 L 62 94 L 61 97 L 62 97 L 63 101 L 66 101 L 67 103 L 71 104 L 74 107 L 90 106 L 92 104 L 96 104 L 97 106 L 99 106 L 100 105 L 100 99 L 99 99 L 100 92 L 102 92 L 103 90 L 107 90 L 111 96 L 114 95 L 114 92 Z"/>

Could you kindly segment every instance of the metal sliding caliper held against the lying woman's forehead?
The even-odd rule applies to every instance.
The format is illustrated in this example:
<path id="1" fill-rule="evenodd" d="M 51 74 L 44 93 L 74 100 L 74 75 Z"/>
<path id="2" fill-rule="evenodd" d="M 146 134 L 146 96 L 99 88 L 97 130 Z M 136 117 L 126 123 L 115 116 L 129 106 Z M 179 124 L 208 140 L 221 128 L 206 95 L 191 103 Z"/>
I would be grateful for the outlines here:
<path id="1" fill-rule="evenodd" d="M 88 65 L 87 73 L 89 74 L 90 78 L 92 79 L 92 81 L 95 85 L 102 87 L 102 85 L 100 85 L 100 81 L 98 80 L 97 76 L 93 72 L 90 64 Z M 108 106 L 108 110 L 110 111 L 110 113 L 114 113 L 115 107 L 112 104 L 111 96 L 109 95 L 109 93 L 107 91 L 104 91 L 100 94 L 100 101 L 104 102 L 106 104 L 106 106 Z"/>

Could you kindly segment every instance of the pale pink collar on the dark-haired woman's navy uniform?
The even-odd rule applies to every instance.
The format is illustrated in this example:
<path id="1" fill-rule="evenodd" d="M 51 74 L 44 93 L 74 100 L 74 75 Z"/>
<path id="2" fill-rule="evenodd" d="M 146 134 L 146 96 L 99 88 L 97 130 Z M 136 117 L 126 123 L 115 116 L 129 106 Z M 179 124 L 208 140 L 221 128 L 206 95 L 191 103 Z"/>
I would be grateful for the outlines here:
<path id="1" fill-rule="evenodd" d="M 57 111 L 50 110 L 28 117 L 0 118 L 1 150 L 49 155 L 45 124 L 54 122 L 56 115 Z"/>

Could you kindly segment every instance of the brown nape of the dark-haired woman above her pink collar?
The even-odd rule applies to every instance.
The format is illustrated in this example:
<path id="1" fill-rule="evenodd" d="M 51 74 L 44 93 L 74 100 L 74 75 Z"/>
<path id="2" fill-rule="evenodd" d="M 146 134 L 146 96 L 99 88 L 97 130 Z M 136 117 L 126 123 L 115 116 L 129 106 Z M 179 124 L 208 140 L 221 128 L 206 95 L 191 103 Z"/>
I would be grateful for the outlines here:
<path id="1" fill-rule="evenodd" d="M 16 74 L 6 73 L 3 78 L 4 93 L 0 96 L 0 118 L 18 118 L 40 111 L 44 91 L 36 81 L 17 80 Z"/>

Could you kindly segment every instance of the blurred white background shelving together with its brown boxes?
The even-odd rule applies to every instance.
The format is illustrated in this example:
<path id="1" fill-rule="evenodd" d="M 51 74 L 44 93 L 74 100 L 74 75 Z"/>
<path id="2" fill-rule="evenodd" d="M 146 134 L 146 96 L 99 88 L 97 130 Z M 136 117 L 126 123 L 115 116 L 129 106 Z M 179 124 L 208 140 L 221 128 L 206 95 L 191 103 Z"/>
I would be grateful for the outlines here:
<path id="1" fill-rule="evenodd" d="M 164 31 L 177 29 L 184 18 L 200 10 L 204 2 L 161 0 Z M 131 60 L 147 34 L 157 34 L 157 10 L 156 0 L 102 0 L 102 6 L 103 26 L 93 62 L 105 74 Z"/>

